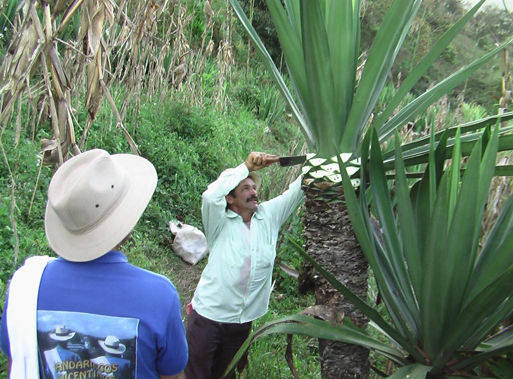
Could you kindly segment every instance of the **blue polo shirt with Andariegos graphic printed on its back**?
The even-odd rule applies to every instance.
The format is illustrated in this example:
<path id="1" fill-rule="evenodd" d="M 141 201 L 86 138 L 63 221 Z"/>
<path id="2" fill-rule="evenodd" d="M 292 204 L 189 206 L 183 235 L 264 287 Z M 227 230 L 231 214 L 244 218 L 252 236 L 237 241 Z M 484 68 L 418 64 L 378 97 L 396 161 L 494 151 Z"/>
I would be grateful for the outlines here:
<path id="1" fill-rule="evenodd" d="M 10 356 L 7 307 L 0 346 Z M 47 264 L 37 299 L 37 342 L 45 378 L 158 378 L 181 372 L 188 361 L 175 287 L 117 251 L 89 262 L 58 258 Z"/>

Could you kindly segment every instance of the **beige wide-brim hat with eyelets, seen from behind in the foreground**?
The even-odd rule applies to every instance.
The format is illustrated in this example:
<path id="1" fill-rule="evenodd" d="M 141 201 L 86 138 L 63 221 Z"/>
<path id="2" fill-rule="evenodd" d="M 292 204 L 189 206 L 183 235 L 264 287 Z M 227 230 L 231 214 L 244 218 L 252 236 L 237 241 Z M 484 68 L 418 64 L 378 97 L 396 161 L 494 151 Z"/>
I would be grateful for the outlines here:
<path id="1" fill-rule="evenodd" d="M 151 162 L 136 155 L 93 149 L 69 159 L 48 187 L 50 247 L 75 262 L 104 255 L 132 231 L 156 183 Z"/>

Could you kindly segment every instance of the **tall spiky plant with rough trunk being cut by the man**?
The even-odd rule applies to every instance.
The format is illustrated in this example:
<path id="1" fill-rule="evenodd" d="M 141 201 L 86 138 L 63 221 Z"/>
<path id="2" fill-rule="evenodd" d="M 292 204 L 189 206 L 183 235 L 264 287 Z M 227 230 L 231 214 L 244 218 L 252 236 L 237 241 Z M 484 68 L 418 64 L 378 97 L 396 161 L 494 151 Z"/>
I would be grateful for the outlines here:
<path id="1" fill-rule="evenodd" d="M 309 150 L 315 155 L 310 157 L 309 172 L 305 175 L 306 211 L 303 222 L 306 249 L 323 267 L 329 268 L 340 281 L 348 283 L 348 287 L 363 297 L 367 289 L 367 262 L 360 252 L 341 197 L 341 173 L 334 156 L 343 153 L 344 160 L 351 162 L 350 174 L 357 175 L 359 161 L 355 158 L 361 154 L 361 137 L 369 125 L 377 130 L 380 143 L 387 142 L 395 130 L 421 115 L 510 41 L 451 74 L 397 111 L 410 89 L 484 3 L 481 0 L 440 37 L 419 64 L 411 69 L 386 108 L 374 115 L 373 110 L 390 67 L 416 17 L 421 0 L 392 1 L 368 52 L 361 75 L 361 0 L 266 0 L 294 96 L 238 0 L 230 0 L 230 3 L 298 121 Z M 502 117 L 506 121 L 512 117 L 512 113 Z M 488 118 L 469 123 L 465 131 L 492 125 L 495 121 L 496 118 Z M 504 132 L 500 130 L 499 134 Z M 440 137 L 440 134 L 435 136 L 435 143 Z M 512 148 L 511 139 L 505 137 L 504 140 L 501 138 L 500 148 Z M 465 138 L 468 142 L 466 146 L 473 146 L 478 135 Z M 403 146 L 403 154 L 408 155 L 405 164 L 426 163 L 428 141 L 422 139 Z M 408 148 L 411 150 L 407 151 Z M 464 153 L 468 155 L 469 148 Z M 390 158 L 389 164 L 393 165 L 393 159 Z M 353 183 L 358 185 L 356 180 Z M 315 294 L 318 304 L 329 304 L 350 316 L 354 323 L 365 325 L 365 316 L 327 283 L 315 283 Z M 366 349 L 355 351 L 351 346 L 333 346 L 321 340 L 320 354 L 324 377 L 367 375 Z"/>

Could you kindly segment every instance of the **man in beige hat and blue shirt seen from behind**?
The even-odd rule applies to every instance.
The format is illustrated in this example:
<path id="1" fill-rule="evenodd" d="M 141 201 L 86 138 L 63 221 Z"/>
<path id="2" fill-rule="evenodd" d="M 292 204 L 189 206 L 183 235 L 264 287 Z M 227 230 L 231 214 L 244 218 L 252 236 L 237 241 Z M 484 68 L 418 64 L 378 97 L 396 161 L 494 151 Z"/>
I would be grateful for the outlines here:
<path id="1" fill-rule="evenodd" d="M 53 377 L 48 372 L 66 378 L 179 377 L 188 348 L 176 289 L 118 251 L 156 183 L 146 159 L 101 149 L 58 168 L 48 188 L 45 230 L 60 257 L 27 259 L 11 279 L 4 308 L 0 347 L 11 378 Z M 50 359 L 45 351 L 55 338 L 48 336 L 68 330 L 75 343 L 67 349 L 80 359 Z M 119 362 L 95 361 L 105 347 L 123 347 L 123 370 Z"/>

